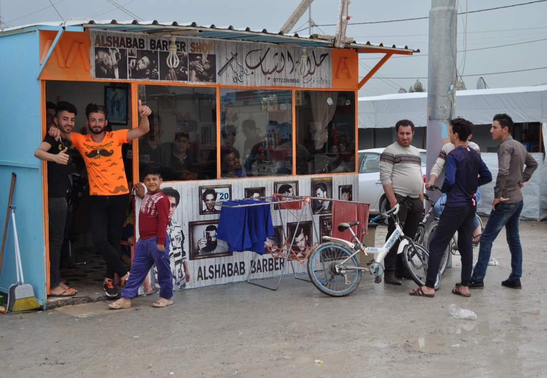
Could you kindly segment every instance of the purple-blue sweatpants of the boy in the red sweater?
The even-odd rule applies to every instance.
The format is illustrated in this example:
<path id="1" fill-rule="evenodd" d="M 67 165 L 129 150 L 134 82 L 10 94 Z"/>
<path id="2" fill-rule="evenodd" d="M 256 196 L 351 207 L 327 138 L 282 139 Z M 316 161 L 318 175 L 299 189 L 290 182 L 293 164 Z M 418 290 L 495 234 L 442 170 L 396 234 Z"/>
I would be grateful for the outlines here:
<path id="1" fill-rule="evenodd" d="M 160 285 L 160 298 L 171 299 L 173 296 L 173 273 L 169 261 L 169 235 L 165 238 L 165 250 L 161 251 L 156 246 L 158 237 L 139 239 L 135 245 L 135 257 L 131 264 L 131 271 L 125 287 L 121 290 L 121 297 L 134 298 L 138 288 L 141 287 L 150 268 L 156 264 L 158 268 L 158 283 Z"/>

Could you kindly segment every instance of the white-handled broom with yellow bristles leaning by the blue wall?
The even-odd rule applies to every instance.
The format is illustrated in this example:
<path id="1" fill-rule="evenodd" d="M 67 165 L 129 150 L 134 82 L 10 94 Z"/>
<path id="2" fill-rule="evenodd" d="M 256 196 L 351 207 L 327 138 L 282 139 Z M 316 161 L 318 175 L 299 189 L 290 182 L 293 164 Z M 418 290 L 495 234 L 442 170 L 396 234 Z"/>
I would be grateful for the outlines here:
<path id="1" fill-rule="evenodd" d="M 23 277 L 23 267 L 21 264 L 21 252 L 19 251 L 19 239 L 17 238 L 17 227 L 15 226 L 15 206 L 10 205 L 11 220 L 13 221 L 13 239 L 15 241 L 15 265 L 17 268 L 17 283 L 11 285 L 8 290 L 8 310 L 11 312 L 28 311 L 39 309 L 40 304 L 34 297 L 34 289 L 28 283 L 25 283 Z"/>

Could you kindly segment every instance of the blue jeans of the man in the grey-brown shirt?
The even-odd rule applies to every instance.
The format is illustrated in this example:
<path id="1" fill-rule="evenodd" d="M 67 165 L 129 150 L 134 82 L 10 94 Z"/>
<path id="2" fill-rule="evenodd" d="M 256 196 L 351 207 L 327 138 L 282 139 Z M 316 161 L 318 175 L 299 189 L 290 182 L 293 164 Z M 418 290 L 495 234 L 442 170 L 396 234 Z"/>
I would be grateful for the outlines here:
<path id="1" fill-rule="evenodd" d="M 523 201 L 515 203 L 501 202 L 496 205 L 496 210 L 490 211 L 490 218 L 486 227 L 482 230 L 480 238 L 479 260 L 473 270 L 471 279 L 482 281 L 486 275 L 492 243 L 496 240 L 503 226 L 507 234 L 507 244 L 511 252 L 511 274 L 509 281 L 519 280 L 522 276 L 522 247 L 520 245 L 519 222 Z"/>

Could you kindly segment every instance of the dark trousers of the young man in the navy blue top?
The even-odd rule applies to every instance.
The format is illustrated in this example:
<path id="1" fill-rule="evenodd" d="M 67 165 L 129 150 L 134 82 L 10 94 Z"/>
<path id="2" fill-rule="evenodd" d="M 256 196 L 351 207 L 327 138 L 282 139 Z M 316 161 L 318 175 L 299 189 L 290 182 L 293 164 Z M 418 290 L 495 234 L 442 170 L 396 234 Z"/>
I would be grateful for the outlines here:
<path id="1" fill-rule="evenodd" d="M 462 286 L 469 286 L 473 269 L 473 229 L 477 206 L 446 207 L 441 214 L 437 231 L 429 242 L 426 286 L 434 288 L 443 253 L 458 232 L 458 251 L 462 257 Z"/>

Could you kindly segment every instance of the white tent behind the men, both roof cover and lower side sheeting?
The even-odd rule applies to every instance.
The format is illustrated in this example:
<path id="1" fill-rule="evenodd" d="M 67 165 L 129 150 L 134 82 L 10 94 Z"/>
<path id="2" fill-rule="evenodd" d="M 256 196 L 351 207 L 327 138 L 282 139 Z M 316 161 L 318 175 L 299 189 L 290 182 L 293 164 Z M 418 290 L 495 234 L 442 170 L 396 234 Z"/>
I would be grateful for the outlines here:
<path id="1" fill-rule="evenodd" d="M 543 123 L 543 146 L 547 139 L 547 86 L 465 90 L 456 92 L 455 116 L 475 125 L 490 125 L 494 114 L 507 113 L 514 122 Z M 359 128 L 394 127 L 402 119 L 412 120 L 417 127 L 427 126 L 427 93 L 398 93 L 395 95 L 360 97 Z M 539 163 L 532 179 L 522 190 L 525 208 L 521 217 L 543 220 L 547 218 L 547 156 L 533 153 Z M 493 188 L 497 176 L 497 154 L 482 153 L 490 168 L 493 181 L 482 189 L 478 205 L 480 214 L 490 214 Z"/>

